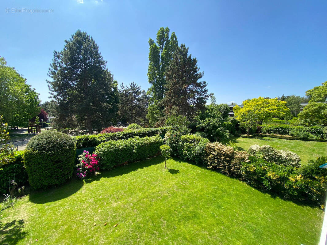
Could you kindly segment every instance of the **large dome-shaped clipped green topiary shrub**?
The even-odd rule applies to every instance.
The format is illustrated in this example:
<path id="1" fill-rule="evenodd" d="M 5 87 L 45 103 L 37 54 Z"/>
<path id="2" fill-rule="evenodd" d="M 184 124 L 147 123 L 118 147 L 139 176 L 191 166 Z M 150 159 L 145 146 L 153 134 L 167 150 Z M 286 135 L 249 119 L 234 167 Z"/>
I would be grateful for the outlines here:
<path id="1" fill-rule="evenodd" d="M 27 144 L 24 165 L 33 189 L 58 186 L 73 174 L 76 147 L 71 137 L 57 131 L 34 136 Z"/>

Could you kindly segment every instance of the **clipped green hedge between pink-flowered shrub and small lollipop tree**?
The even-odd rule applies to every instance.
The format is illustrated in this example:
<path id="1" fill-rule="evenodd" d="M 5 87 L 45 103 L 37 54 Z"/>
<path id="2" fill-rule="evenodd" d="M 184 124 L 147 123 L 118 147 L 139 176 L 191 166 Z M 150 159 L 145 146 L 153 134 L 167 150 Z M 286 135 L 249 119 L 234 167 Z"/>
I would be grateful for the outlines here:
<path id="1" fill-rule="evenodd" d="M 99 167 L 108 170 L 125 162 L 154 156 L 162 144 L 163 139 L 160 136 L 110 140 L 99 144 L 95 148 L 95 154 L 100 158 Z"/>

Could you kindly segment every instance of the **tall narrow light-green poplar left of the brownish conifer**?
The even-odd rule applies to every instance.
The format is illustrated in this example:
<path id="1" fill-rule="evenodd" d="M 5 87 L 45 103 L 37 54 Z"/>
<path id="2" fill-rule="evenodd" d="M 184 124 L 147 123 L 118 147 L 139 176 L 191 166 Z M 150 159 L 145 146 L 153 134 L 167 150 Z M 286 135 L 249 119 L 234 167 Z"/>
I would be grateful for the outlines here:
<path id="1" fill-rule="evenodd" d="M 175 32 L 169 37 L 169 28 L 161 27 L 157 33 L 156 42 L 149 39 L 148 81 L 151 84 L 148 94 L 151 95 L 147 119 L 154 125 L 163 117 L 163 97 L 165 93 L 165 70 L 173 52 L 178 47 Z"/>

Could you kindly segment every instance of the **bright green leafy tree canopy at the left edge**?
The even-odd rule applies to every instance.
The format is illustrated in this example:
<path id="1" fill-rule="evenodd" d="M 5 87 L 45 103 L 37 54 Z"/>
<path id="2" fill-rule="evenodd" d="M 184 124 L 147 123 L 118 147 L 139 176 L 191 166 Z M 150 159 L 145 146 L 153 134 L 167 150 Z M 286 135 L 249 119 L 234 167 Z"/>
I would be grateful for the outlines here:
<path id="1" fill-rule="evenodd" d="M 26 127 L 40 112 L 39 94 L 0 57 L 0 115 L 10 126 Z"/>

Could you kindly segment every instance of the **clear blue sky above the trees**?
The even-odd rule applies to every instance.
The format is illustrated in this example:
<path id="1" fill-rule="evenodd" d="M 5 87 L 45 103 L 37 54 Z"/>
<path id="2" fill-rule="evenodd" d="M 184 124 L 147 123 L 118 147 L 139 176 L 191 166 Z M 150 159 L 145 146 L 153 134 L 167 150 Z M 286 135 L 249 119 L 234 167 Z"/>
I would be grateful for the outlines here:
<path id="1" fill-rule="evenodd" d="M 44 102 L 53 51 L 81 29 L 95 39 L 119 84 L 135 81 L 147 90 L 148 39 L 168 26 L 198 58 L 217 102 L 303 96 L 327 80 L 326 11 L 325 0 L 1 1 L 0 56 Z"/>

